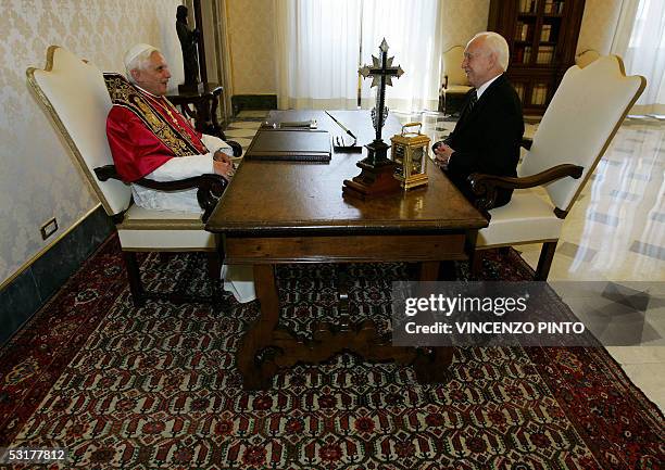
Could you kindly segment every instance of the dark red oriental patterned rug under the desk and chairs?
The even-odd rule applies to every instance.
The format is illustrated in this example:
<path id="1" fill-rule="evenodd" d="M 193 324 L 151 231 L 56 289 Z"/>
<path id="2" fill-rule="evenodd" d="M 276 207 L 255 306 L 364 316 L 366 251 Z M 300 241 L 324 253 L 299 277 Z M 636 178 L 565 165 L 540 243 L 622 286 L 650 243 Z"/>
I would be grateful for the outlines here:
<path id="1" fill-rule="evenodd" d="M 206 290 L 203 266 L 142 259 L 151 289 Z M 355 317 L 387 316 L 406 268 L 352 265 Z M 486 254 L 482 279 L 531 275 L 512 250 Z M 255 302 L 137 309 L 125 279 L 112 238 L 0 351 L 0 446 L 66 447 L 62 467 L 86 469 L 663 468 L 663 415 L 603 348 L 461 348 L 438 385 L 339 355 L 248 393 L 235 353 Z M 287 323 L 334 316 L 336 281 L 330 265 L 280 268 Z"/>

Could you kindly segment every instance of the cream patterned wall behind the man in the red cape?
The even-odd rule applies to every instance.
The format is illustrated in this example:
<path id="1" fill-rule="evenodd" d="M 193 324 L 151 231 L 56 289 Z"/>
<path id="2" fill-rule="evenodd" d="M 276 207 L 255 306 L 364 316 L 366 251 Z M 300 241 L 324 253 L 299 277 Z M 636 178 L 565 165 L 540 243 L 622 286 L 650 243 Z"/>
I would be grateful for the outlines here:
<path id="1" fill-rule="evenodd" d="M 181 53 L 175 0 L 0 0 L 0 282 L 76 224 L 98 201 L 29 92 L 25 71 L 43 67 L 50 45 L 66 47 L 104 71 L 122 71 L 136 42 L 164 50 L 176 84 Z M 47 241 L 40 226 L 58 218 Z"/>

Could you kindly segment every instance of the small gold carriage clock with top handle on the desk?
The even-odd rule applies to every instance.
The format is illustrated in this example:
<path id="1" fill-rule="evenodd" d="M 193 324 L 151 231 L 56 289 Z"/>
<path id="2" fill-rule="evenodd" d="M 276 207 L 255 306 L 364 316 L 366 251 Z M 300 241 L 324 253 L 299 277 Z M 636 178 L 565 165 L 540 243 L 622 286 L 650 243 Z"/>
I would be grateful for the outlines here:
<path id="1" fill-rule="evenodd" d="M 406 132 L 406 128 L 418 126 L 417 131 Z M 393 136 L 392 161 L 396 163 L 394 177 L 404 190 L 427 185 L 427 151 L 429 137 L 421 134 L 423 123 L 402 126 L 402 132 Z"/>

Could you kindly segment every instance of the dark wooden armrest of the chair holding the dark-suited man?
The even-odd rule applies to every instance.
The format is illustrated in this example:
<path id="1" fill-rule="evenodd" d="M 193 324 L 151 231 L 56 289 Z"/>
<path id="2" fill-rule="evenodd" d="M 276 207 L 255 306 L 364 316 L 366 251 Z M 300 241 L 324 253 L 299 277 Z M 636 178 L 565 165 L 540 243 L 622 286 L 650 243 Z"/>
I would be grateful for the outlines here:
<path id="1" fill-rule="evenodd" d="M 476 207 L 487 213 L 494 207 L 497 202 L 497 188 L 504 189 L 528 189 L 537 186 L 547 185 L 567 176 L 577 179 L 581 176 L 584 167 L 572 164 L 556 165 L 540 172 L 536 175 L 524 178 L 513 178 L 509 176 L 486 175 L 473 173 L 468 176 L 468 182 L 478 196 Z"/>

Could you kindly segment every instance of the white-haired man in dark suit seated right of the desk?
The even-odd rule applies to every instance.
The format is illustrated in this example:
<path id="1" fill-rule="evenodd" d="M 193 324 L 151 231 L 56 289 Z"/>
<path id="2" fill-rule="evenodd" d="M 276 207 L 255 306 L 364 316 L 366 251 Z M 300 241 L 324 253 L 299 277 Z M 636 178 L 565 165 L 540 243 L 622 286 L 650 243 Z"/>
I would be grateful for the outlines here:
<path id="1" fill-rule="evenodd" d="M 517 176 L 524 134 L 522 103 L 505 77 L 509 46 L 497 33 L 479 33 L 464 50 L 462 68 L 475 87 L 465 98 L 452 134 L 434 144 L 437 164 L 472 202 L 472 173 Z M 494 206 L 509 203 L 513 191 L 500 189 Z"/>

